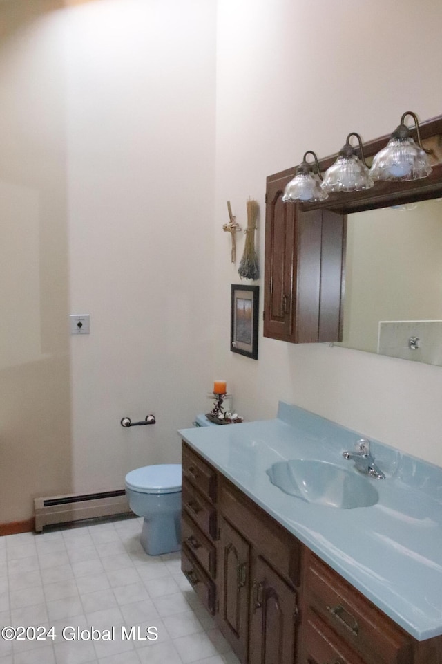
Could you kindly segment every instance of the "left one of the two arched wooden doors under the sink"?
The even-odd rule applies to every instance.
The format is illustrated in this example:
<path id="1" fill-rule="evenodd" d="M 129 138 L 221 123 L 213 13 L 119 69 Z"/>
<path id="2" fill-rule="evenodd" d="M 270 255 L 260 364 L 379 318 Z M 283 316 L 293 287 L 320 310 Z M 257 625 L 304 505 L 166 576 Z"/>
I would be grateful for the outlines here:
<path id="1" fill-rule="evenodd" d="M 249 631 L 249 552 L 247 540 L 222 519 L 219 542 L 217 622 L 240 661 L 247 661 Z"/>

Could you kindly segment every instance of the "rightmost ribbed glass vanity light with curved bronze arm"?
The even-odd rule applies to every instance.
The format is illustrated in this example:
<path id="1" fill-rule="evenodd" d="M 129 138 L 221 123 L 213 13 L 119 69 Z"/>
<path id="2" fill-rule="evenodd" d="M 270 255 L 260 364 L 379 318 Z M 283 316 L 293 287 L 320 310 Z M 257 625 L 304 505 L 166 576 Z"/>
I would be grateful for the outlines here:
<path id="1" fill-rule="evenodd" d="M 411 116 L 414 120 L 417 143 L 405 124 L 407 116 Z M 421 180 L 432 172 L 428 158 L 430 153 L 431 150 L 422 147 L 416 114 L 407 111 L 401 118 L 401 124 L 390 136 L 386 147 L 374 156 L 370 173 L 374 180 Z"/>

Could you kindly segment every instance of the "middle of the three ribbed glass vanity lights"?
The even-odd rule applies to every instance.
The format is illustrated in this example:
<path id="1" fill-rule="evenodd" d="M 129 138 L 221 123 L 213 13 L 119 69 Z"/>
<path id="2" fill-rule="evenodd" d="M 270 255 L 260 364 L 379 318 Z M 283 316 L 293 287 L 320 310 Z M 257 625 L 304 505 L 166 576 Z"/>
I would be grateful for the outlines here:
<path id="1" fill-rule="evenodd" d="M 361 150 L 361 159 L 356 148 L 350 144 L 350 138 L 356 136 Z M 361 136 L 352 131 L 347 136 L 344 147 L 339 151 L 335 163 L 327 169 L 321 187 L 325 192 L 359 192 L 371 189 L 374 181 L 365 163 Z"/>

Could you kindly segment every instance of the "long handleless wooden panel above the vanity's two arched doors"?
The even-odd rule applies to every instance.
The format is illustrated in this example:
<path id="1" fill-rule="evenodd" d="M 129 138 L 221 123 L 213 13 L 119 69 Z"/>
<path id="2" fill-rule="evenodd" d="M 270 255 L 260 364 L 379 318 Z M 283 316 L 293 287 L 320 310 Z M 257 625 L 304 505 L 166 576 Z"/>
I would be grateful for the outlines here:
<path id="1" fill-rule="evenodd" d="M 221 511 L 267 562 L 296 586 L 300 581 L 301 544 L 229 481 L 220 487 Z"/>

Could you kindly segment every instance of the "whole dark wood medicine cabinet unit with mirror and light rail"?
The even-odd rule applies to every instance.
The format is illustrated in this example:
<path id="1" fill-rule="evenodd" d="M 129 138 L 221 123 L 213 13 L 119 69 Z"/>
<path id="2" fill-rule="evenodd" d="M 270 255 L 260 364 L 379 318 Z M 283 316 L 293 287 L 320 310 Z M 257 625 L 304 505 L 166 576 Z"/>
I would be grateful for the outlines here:
<path id="1" fill-rule="evenodd" d="M 282 203 L 295 169 L 267 178 L 265 336 L 442 365 L 442 116 L 420 129 L 422 180 Z M 388 138 L 364 145 L 367 161 Z"/>

